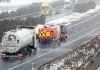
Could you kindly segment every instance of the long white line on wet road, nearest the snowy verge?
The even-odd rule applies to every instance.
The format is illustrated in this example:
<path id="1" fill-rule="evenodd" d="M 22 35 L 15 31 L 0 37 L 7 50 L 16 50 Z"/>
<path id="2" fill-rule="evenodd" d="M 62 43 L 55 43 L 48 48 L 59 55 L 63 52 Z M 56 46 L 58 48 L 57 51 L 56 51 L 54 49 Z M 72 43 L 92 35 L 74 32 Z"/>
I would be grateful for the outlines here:
<path id="1" fill-rule="evenodd" d="M 67 45 L 69 45 L 69 44 L 71 44 L 71 43 L 73 43 L 73 42 L 75 42 L 75 41 L 77 41 L 77 40 L 79 40 L 79 39 L 84 38 L 85 36 L 87 36 L 87 35 L 89 35 L 89 34 L 95 32 L 95 31 L 97 31 L 99 28 L 100 28 L 100 27 L 98 27 L 98 28 L 96 27 L 95 30 L 92 30 L 92 31 L 89 32 L 88 34 L 83 35 L 82 37 L 77 38 L 77 39 L 73 40 L 72 42 L 69 42 Z M 64 46 L 62 46 L 62 47 L 65 47 L 65 46 L 66 46 L 66 45 L 64 45 Z M 62 48 L 62 47 L 60 47 L 60 48 Z M 58 49 L 60 49 L 60 48 L 58 48 Z M 41 56 L 38 56 L 38 57 L 36 57 L 36 58 L 34 58 L 34 59 L 30 60 L 30 61 L 26 61 L 26 62 L 24 62 L 24 63 L 22 63 L 22 64 L 17 65 L 17 66 L 14 66 L 14 67 L 12 67 L 12 68 L 10 68 L 10 69 L 8 69 L 8 70 L 13 70 L 13 69 L 15 69 L 15 68 L 18 68 L 18 67 L 20 67 L 20 66 L 22 66 L 22 65 L 24 65 L 24 64 L 26 64 L 26 63 L 29 63 L 29 62 L 31 62 L 31 61 L 33 61 L 33 60 L 35 60 L 35 59 L 38 59 L 38 58 L 40 58 L 40 57 L 42 57 L 42 56 L 45 56 L 45 55 L 47 55 L 47 54 L 49 54 L 49 53 L 51 53 L 51 52 L 53 52 L 53 51 L 56 51 L 56 50 L 58 50 L 58 49 L 54 49 L 54 50 L 52 50 L 52 51 L 49 51 L 49 52 L 47 52 L 47 53 L 45 53 L 45 54 L 43 54 L 43 55 L 41 55 Z"/>

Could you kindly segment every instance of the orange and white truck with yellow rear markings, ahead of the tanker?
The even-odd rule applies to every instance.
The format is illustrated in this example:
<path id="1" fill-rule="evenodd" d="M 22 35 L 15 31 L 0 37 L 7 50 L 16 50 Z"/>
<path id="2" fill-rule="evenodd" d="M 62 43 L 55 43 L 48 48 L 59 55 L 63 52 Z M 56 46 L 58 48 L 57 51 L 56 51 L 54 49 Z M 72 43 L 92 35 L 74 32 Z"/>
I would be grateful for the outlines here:
<path id="1" fill-rule="evenodd" d="M 54 42 L 60 40 L 65 42 L 67 38 L 66 25 L 44 25 L 38 31 L 39 43 Z"/>

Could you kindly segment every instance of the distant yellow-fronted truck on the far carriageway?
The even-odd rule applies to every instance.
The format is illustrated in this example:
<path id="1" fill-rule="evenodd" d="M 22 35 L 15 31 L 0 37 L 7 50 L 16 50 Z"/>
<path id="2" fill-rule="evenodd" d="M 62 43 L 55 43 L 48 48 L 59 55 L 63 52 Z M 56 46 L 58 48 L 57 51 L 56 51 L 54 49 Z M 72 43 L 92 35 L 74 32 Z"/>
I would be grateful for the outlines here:
<path id="1" fill-rule="evenodd" d="M 41 15 L 50 15 L 52 13 L 50 3 L 41 4 Z"/>

